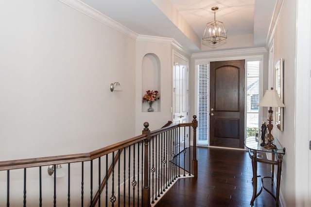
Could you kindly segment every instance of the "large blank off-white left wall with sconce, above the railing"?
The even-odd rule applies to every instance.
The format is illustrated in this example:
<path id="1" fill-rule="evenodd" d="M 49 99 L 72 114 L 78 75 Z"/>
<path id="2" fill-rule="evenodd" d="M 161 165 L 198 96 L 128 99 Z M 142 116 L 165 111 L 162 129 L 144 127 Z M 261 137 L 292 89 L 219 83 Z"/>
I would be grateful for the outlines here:
<path id="1" fill-rule="evenodd" d="M 58 0 L 1 1 L 0 25 L 0 160 L 135 135 L 133 38 Z"/>

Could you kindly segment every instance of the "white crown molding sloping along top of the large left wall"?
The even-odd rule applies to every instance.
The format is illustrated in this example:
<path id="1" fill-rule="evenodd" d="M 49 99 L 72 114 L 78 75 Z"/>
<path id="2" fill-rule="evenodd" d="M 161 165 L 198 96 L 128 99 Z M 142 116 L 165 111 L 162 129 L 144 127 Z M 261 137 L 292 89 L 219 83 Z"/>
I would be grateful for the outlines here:
<path id="1" fill-rule="evenodd" d="M 124 27 L 120 23 L 114 21 L 113 19 L 109 18 L 108 16 L 100 13 L 99 11 L 93 9 L 92 7 L 88 6 L 87 4 L 81 2 L 80 0 L 58 0 L 71 8 L 101 22 L 102 24 L 119 31 L 120 33 L 136 40 L 137 33 L 128 28 Z"/>

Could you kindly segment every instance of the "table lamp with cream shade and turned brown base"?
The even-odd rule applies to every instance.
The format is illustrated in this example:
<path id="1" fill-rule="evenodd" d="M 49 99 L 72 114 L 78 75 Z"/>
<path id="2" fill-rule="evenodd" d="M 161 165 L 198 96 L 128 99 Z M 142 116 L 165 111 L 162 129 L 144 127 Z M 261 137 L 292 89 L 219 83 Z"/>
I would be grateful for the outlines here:
<path id="1" fill-rule="evenodd" d="M 271 90 L 266 90 L 264 96 L 262 97 L 261 101 L 259 102 L 258 106 L 262 107 L 269 107 L 269 124 L 267 125 L 268 128 L 268 140 L 264 148 L 267 149 L 276 149 L 276 146 L 272 144 L 273 135 L 271 133 L 273 128 L 273 110 L 272 107 L 285 107 L 282 103 L 281 99 L 279 98 L 277 91 L 271 88 Z"/>

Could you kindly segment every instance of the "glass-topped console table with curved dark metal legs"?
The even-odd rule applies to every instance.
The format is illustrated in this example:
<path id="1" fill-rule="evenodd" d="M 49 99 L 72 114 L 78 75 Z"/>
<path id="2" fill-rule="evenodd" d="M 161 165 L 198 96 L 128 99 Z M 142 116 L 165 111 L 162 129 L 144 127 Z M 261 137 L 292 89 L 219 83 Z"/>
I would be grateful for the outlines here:
<path id="1" fill-rule="evenodd" d="M 255 136 L 247 137 L 244 141 L 244 145 L 246 148 L 248 148 L 249 156 L 252 159 L 252 168 L 253 168 L 253 197 L 251 200 L 250 205 L 254 206 L 255 199 L 259 196 L 259 194 L 262 192 L 262 188 L 269 192 L 274 199 L 276 200 L 276 207 L 279 206 L 279 191 L 280 191 L 280 179 L 281 179 L 281 170 L 282 170 L 282 160 L 283 155 L 285 155 L 285 148 L 282 148 L 278 140 L 275 138 L 273 140 L 273 144 L 276 145 L 276 149 L 266 149 L 264 147 L 260 146 L 260 143 L 255 139 Z M 264 152 L 264 153 L 270 153 L 272 159 L 264 159 L 259 158 L 257 156 L 257 152 Z M 275 160 L 275 155 L 277 156 L 277 160 Z M 270 164 L 272 166 L 272 172 L 271 177 L 261 177 L 261 188 L 259 192 L 257 192 L 257 163 L 266 163 Z M 276 174 L 276 194 L 269 191 L 267 188 L 263 185 L 263 179 L 264 178 L 271 178 L 271 184 L 273 185 L 274 181 L 274 166 L 277 166 L 277 174 Z"/>

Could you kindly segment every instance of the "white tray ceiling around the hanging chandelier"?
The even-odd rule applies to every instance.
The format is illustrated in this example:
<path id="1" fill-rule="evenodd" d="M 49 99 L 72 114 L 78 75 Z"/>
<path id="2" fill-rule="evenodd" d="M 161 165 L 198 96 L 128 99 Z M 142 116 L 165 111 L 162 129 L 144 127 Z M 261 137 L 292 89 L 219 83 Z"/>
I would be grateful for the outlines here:
<path id="1" fill-rule="evenodd" d="M 265 47 L 276 0 L 81 0 L 139 35 L 173 38 L 190 52 Z M 227 40 L 220 47 L 201 39 L 218 6 Z"/>

